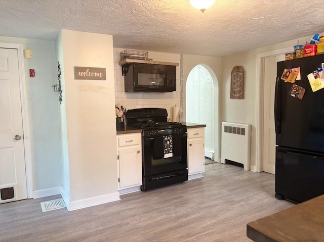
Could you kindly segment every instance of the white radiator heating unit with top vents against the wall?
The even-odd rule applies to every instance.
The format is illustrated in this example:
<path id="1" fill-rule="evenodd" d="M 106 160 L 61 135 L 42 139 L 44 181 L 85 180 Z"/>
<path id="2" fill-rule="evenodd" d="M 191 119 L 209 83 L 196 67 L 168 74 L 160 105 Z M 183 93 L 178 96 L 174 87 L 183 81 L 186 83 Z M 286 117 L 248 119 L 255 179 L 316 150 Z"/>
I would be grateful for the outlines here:
<path id="1" fill-rule="evenodd" d="M 222 122 L 221 163 L 226 160 L 243 165 L 250 170 L 251 124 Z"/>

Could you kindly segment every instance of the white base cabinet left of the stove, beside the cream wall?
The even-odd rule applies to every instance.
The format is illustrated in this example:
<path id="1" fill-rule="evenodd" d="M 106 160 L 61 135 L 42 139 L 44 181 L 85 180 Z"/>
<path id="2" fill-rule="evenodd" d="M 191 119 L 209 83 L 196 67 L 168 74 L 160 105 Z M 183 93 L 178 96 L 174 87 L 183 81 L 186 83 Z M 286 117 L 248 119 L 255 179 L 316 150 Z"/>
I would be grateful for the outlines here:
<path id="1" fill-rule="evenodd" d="M 119 193 L 139 190 L 142 185 L 141 133 L 117 135 L 117 153 Z"/>

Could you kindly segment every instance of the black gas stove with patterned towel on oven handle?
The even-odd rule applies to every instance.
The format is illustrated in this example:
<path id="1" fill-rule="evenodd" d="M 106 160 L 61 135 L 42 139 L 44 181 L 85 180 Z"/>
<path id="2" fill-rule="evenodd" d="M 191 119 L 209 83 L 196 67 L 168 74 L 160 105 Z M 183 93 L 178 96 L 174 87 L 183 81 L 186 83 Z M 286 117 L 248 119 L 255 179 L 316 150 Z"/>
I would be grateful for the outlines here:
<path id="1" fill-rule="evenodd" d="M 168 122 L 166 109 L 131 109 L 125 116 L 127 126 L 142 129 L 141 189 L 146 191 L 188 180 L 187 126 Z"/>

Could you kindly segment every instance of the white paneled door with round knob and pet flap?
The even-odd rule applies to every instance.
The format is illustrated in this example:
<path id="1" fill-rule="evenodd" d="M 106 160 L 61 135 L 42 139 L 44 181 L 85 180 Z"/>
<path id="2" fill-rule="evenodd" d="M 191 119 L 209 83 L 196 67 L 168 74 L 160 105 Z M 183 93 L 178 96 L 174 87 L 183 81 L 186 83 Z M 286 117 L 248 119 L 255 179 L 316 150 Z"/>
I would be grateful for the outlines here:
<path id="1" fill-rule="evenodd" d="M 27 199 L 18 51 L 0 49 L 0 203 Z"/>

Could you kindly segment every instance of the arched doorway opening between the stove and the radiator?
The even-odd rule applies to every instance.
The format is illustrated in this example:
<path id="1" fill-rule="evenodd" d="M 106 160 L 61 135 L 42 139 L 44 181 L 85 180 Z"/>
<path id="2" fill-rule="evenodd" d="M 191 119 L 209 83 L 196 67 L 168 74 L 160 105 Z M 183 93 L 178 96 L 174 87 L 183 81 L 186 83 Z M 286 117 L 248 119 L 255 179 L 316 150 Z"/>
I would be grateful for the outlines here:
<path id="1" fill-rule="evenodd" d="M 186 122 L 206 124 L 205 157 L 211 160 L 215 159 L 215 139 L 218 139 L 218 132 L 215 132 L 218 127 L 215 126 L 215 79 L 210 67 L 199 64 L 192 68 L 186 81 Z"/>

